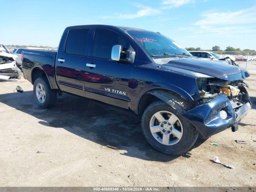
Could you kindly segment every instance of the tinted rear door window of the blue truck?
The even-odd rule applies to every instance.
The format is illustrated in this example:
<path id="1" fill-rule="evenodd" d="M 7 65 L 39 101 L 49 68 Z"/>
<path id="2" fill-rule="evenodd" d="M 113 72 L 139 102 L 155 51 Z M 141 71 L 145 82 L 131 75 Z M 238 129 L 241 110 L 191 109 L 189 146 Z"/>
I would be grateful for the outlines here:
<path id="1" fill-rule="evenodd" d="M 72 29 L 68 32 L 65 52 L 72 55 L 85 55 L 89 29 Z"/>

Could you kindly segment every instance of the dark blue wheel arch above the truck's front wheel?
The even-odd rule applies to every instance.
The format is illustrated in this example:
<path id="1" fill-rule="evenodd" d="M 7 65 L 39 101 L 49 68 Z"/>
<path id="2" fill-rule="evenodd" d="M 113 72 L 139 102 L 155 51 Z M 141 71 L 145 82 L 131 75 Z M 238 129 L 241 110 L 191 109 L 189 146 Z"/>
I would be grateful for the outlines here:
<path id="1" fill-rule="evenodd" d="M 191 97 L 190 99 L 193 100 Z M 157 100 L 162 100 L 177 110 L 180 114 L 191 109 L 193 106 L 190 102 L 191 100 L 188 100 L 182 94 L 179 94 L 174 90 L 155 88 L 144 93 L 140 98 L 140 102 L 137 107 L 137 114 L 141 117 L 146 107 Z"/>

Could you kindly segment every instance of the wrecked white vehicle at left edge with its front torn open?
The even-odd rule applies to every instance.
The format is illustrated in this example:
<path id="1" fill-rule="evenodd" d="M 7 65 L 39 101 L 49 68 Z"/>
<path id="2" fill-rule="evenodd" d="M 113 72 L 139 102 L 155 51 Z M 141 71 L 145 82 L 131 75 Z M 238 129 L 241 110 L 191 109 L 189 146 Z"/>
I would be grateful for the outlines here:
<path id="1" fill-rule="evenodd" d="M 16 65 L 16 55 L 0 51 L 0 80 L 20 79 L 21 72 Z"/>

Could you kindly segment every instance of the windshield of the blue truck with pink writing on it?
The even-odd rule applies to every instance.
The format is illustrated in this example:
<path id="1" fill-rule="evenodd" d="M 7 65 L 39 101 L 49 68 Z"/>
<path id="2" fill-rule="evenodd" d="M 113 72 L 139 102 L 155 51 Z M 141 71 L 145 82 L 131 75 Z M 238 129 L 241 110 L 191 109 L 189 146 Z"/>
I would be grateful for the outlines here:
<path id="1" fill-rule="evenodd" d="M 127 30 L 127 32 L 146 49 L 150 56 L 171 56 L 171 54 L 192 56 L 174 40 L 160 33 L 138 30 Z"/>

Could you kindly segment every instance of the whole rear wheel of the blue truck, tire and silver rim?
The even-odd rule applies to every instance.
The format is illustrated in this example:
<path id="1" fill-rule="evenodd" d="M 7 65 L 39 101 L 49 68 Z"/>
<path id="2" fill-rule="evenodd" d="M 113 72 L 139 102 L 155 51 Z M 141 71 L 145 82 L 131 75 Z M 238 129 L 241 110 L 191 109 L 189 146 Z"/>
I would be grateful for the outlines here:
<path id="1" fill-rule="evenodd" d="M 50 108 L 56 103 L 57 93 L 51 89 L 46 77 L 35 80 L 34 98 L 40 108 Z"/>

